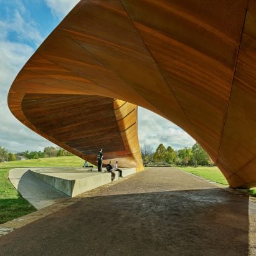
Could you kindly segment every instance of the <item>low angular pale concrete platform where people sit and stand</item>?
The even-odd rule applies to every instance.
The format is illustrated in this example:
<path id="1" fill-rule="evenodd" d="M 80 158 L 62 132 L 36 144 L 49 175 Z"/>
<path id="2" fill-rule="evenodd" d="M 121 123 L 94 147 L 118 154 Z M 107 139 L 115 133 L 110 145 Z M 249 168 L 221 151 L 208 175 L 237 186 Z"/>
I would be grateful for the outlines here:
<path id="1" fill-rule="evenodd" d="M 136 173 L 135 168 L 122 168 L 123 177 Z M 74 197 L 83 192 L 111 183 L 111 173 L 90 171 L 90 168 L 41 168 L 31 169 L 37 179 L 54 187 L 67 196 Z M 115 172 L 115 180 L 119 173 Z"/>

